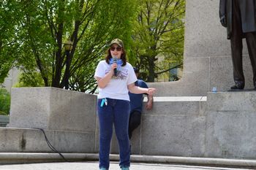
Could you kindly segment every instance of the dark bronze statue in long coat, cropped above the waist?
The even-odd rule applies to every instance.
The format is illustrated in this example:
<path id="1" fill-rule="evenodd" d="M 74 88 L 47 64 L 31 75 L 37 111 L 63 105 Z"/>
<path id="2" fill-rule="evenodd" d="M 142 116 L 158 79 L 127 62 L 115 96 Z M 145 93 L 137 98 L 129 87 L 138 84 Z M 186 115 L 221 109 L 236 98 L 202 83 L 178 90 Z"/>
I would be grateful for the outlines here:
<path id="1" fill-rule="evenodd" d="M 219 18 L 227 28 L 227 39 L 231 42 L 233 78 L 231 89 L 244 89 L 242 39 L 246 39 L 252 63 L 253 85 L 256 89 L 256 20 L 255 0 L 220 0 Z"/>

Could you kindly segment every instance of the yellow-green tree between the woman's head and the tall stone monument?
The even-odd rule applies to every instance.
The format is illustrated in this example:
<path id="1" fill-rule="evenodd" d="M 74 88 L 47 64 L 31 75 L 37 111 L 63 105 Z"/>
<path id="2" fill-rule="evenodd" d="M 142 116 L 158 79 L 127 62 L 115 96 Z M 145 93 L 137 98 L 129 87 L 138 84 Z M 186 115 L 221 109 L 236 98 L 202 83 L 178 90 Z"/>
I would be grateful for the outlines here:
<path id="1" fill-rule="evenodd" d="M 143 79 L 154 82 L 172 63 L 181 65 L 184 47 L 184 0 L 141 0 L 135 23 L 133 58 Z M 157 63 L 159 57 L 165 59 Z"/>

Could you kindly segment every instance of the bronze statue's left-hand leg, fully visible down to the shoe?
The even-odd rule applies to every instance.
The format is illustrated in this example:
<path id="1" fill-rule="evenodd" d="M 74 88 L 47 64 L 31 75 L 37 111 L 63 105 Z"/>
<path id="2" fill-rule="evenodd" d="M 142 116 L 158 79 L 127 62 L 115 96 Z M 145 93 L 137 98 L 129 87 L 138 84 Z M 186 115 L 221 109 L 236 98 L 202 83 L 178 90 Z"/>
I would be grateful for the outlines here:
<path id="1" fill-rule="evenodd" d="M 242 58 L 242 26 L 241 12 L 237 1 L 233 1 L 231 55 L 233 61 L 233 77 L 236 85 L 231 88 L 244 88 L 243 58 Z"/>

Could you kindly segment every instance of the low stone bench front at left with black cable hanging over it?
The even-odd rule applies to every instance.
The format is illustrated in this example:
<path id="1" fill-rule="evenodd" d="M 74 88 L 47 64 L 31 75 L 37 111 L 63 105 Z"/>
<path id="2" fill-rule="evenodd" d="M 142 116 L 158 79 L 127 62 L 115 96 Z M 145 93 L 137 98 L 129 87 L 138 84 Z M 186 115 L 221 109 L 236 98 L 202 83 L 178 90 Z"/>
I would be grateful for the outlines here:
<path id="1" fill-rule="evenodd" d="M 59 152 L 95 152 L 95 133 L 45 130 Z M 39 129 L 0 127 L 0 152 L 53 152 Z"/>

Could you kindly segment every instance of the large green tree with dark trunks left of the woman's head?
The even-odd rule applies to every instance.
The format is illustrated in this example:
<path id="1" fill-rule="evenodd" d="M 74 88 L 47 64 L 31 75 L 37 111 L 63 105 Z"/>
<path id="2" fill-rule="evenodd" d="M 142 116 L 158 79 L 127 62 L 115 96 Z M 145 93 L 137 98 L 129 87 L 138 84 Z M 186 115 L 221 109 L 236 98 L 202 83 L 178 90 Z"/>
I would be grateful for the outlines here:
<path id="1" fill-rule="evenodd" d="M 110 40 L 118 36 L 128 41 L 136 6 L 132 0 L 25 0 L 17 7 L 22 16 L 15 26 L 19 69 L 27 75 L 39 72 L 45 86 L 86 91 L 95 85 L 91 66 Z M 67 40 L 72 41 L 70 52 L 64 50 Z"/>

